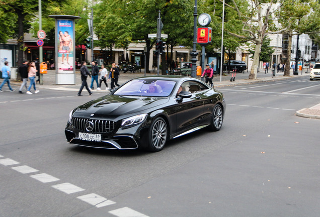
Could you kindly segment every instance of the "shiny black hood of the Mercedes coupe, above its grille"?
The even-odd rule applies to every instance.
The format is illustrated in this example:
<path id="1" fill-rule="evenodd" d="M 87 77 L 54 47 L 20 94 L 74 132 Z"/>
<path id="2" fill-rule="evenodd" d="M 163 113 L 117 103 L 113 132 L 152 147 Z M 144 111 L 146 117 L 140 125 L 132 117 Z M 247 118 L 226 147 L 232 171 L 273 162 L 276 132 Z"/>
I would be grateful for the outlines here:
<path id="1" fill-rule="evenodd" d="M 78 106 L 74 112 L 96 115 L 126 115 L 162 105 L 169 97 L 106 95 Z"/>

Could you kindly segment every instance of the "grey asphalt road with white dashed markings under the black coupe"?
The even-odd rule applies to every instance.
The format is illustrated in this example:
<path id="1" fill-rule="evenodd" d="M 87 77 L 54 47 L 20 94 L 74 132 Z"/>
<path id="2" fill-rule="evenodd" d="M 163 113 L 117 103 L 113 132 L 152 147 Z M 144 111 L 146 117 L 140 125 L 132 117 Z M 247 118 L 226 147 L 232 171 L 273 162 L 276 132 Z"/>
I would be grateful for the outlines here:
<path id="1" fill-rule="evenodd" d="M 218 87 L 219 132 L 158 153 L 66 143 L 73 107 L 94 97 L 43 89 L 0 96 L 0 216 L 318 216 L 320 102 L 308 77 Z"/>

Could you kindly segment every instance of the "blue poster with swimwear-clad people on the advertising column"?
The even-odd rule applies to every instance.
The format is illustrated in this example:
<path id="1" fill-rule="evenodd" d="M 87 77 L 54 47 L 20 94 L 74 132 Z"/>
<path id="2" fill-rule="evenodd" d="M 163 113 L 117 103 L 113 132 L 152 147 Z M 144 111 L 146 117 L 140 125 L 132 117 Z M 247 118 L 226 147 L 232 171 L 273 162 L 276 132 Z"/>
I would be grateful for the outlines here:
<path id="1" fill-rule="evenodd" d="M 74 73 L 73 25 L 71 20 L 57 20 L 58 73 Z"/>

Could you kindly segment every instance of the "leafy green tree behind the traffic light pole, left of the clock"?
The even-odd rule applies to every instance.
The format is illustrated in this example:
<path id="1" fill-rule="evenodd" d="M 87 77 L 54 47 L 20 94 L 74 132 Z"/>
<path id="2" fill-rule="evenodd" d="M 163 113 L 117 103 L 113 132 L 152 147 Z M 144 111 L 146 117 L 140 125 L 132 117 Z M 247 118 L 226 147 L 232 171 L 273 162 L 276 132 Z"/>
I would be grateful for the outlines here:
<path id="1" fill-rule="evenodd" d="M 148 65 L 149 53 L 156 40 L 148 38 L 148 34 L 157 31 L 158 11 L 161 11 L 163 32 L 168 34 L 167 45 L 173 49 L 177 44 L 190 42 L 186 39 L 189 39 L 192 32 L 189 29 L 192 25 L 191 3 L 192 0 L 101 1 L 96 5 L 98 17 L 95 20 L 95 32 L 103 47 L 125 48 L 130 42 L 145 41 L 145 61 Z"/>

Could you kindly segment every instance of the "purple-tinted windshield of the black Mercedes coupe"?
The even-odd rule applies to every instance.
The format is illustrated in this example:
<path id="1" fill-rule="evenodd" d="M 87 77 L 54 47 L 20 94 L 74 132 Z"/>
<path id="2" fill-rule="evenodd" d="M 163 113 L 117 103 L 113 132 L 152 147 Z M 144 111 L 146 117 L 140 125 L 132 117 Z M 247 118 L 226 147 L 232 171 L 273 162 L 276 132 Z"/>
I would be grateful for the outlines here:
<path id="1" fill-rule="evenodd" d="M 175 81 L 141 78 L 129 81 L 117 89 L 114 95 L 169 96 L 175 84 Z"/>

